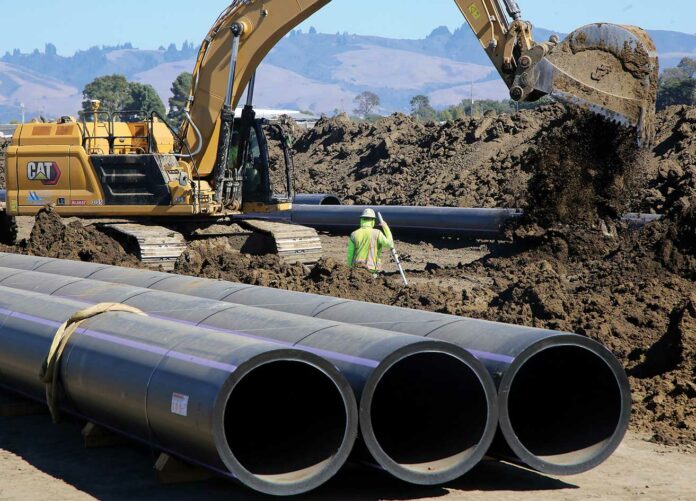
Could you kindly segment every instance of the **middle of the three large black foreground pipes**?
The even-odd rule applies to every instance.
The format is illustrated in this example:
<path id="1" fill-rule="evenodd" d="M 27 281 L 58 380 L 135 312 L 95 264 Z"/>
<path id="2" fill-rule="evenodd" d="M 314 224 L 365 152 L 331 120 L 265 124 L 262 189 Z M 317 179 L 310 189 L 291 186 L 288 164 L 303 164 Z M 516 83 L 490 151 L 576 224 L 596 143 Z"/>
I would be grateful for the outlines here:
<path id="1" fill-rule="evenodd" d="M 45 263 L 40 268 L 91 274 L 84 273 L 90 271 L 85 263 L 26 256 L 11 261 L 26 264 L 27 259 Z M 152 281 L 151 272 L 132 271 L 140 276 L 131 282 Z M 143 289 L 138 284 L 60 275 L 0 268 L 0 285 L 89 304 L 123 303 L 158 317 L 325 357 L 346 376 L 360 401 L 361 437 L 372 462 L 402 480 L 432 485 L 456 479 L 483 458 L 495 436 L 493 381 L 473 355 L 449 343 Z"/>

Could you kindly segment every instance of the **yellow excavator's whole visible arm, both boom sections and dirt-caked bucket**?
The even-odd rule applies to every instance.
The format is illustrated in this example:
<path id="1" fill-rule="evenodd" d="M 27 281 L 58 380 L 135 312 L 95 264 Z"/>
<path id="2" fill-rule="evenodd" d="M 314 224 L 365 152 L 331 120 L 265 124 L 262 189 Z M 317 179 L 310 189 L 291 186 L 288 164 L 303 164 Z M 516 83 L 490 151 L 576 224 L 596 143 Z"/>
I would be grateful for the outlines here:
<path id="1" fill-rule="evenodd" d="M 331 0 L 234 0 L 205 38 L 182 135 L 198 175 L 222 180 L 230 115 L 268 52 Z M 658 62 L 643 30 L 594 24 L 537 43 L 515 0 L 455 0 L 516 101 L 549 95 L 654 135 Z M 217 184 L 222 184 L 217 183 Z"/>

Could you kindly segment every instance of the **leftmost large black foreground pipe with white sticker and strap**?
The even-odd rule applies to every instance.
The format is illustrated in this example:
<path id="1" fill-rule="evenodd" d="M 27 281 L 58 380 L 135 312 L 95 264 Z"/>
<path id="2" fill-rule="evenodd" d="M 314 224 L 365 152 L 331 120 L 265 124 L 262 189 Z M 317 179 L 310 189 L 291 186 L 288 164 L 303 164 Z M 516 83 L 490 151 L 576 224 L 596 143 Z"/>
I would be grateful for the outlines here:
<path id="1" fill-rule="evenodd" d="M 84 308 L 0 287 L 0 385 L 45 402 L 39 369 L 57 328 Z M 350 386 L 326 360 L 181 322 L 93 317 L 59 371 L 64 412 L 266 494 L 320 486 L 357 435 Z"/>

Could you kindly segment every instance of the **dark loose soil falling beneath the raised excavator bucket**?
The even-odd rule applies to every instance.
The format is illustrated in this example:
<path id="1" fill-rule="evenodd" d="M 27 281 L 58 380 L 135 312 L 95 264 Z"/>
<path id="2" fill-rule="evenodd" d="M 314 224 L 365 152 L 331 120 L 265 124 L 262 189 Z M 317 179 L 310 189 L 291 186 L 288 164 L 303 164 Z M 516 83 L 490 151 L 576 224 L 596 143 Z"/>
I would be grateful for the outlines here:
<path id="1" fill-rule="evenodd" d="M 542 226 L 617 219 L 640 198 L 652 155 L 633 131 L 594 115 L 544 130 L 523 159 L 532 177 L 525 212 Z"/>

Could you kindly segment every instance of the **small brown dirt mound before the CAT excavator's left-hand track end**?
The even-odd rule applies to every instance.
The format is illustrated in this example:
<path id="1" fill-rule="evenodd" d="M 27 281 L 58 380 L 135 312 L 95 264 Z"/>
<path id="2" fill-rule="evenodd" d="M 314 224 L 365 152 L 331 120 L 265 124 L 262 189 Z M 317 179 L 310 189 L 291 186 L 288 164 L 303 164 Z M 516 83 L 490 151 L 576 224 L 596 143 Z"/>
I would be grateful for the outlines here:
<path id="1" fill-rule="evenodd" d="M 50 207 L 42 209 L 36 216 L 29 240 L 22 246 L 27 254 L 35 256 L 139 266 L 138 260 L 127 254 L 111 237 L 79 222 L 65 225 Z"/>

